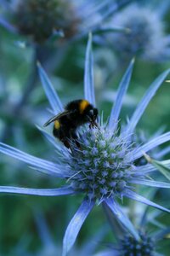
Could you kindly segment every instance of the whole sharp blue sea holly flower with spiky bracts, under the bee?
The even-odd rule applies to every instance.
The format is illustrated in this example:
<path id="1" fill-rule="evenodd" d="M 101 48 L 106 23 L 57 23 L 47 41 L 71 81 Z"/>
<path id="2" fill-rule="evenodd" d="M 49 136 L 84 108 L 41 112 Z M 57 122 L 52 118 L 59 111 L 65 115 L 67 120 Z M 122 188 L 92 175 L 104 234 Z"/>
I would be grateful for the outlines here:
<path id="1" fill-rule="evenodd" d="M 54 91 L 47 74 L 40 64 L 38 64 L 38 70 L 53 112 L 56 114 L 63 111 L 64 108 L 59 100 L 59 96 Z M 63 144 L 56 142 L 54 137 L 51 137 L 42 129 L 40 129 L 42 133 L 56 148 L 59 156 L 56 162 L 39 159 L 17 148 L 12 148 L 3 143 L 0 144 L 0 151 L 3 154 L 8 154 L 18 160 L 25 161 L 37 169 L 37 171 L 45 172 L 53 177 L 60 177 L 66 183 L 64 187 L 54 189 L 27 189 L 1 186 L 1 193 L 42 196 L 84 195 L 82 205 L 71 219 L 65 231 L 63 256 L 68 253 L 76 241 L 78 232 L 88 217 L 88 213 L 94 208 L 95 203 L 99 205 L 101 202 L 105 202 L 107 207 L 111 209 L 111 212 L 136 240 L 139 240 L 139 234 L 126 214 L 122 212 L 116 200 L 117 198 L 127 197 L 162 211 L 170 212 L 167 208 L 161 207 L 133 191 L 136 184 L 170 189 L 169 183 L 158 182 L 148 178 L 149 173 L 156 171 L 155 166 L 150 164 L 145 166 L 134 165 L 135 160 L 138 160 L 144 152 L 148 152 L 160 144 L 169 141 L 170 132 L 164 133 L 137 148 L 133 148 L 132 143 L 132 135 L 139 119 L 151 98 L 155 95 L 156 90 L 158 90 L 164 79 L 167 78 L 169 70 L 161 73 L 153 84 L 150 85 L 127 126 L 118 130 L 117 123 L 122 107 L 122 99 L 127 91 L 132 71 L 133 61 L 127 67 L 127 71 L 122 78 L 108 124 L 104 124 L 103 119 L 100 118 L 99 128 L 90 129 L 85 126 L 83 131 L 80 131 L 79 143 L 81 144 L 81 149 L 77 148 L 77 144 L 74 142 L 71 142 L 72 151 L 65 148 Z M 95 106 L 91 35 L 89 35 L 86 52 L 84 98 Z M 169 165 L 168 160 L 166 164 Z"/>

